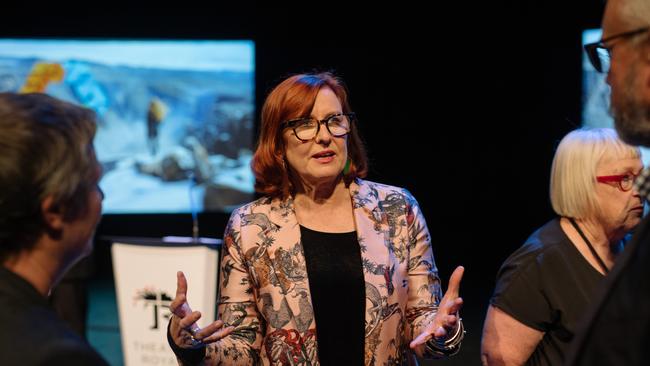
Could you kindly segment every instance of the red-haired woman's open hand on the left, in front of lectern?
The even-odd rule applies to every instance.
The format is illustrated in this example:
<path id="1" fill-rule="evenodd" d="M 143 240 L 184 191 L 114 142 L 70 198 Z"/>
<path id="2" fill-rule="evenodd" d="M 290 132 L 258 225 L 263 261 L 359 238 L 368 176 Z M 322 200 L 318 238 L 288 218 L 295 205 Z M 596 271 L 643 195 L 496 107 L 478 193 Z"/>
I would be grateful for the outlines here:
<path id="1" fill-rule="evenodd" d="M 187 280 L 185 274 L 176 273 L 176 297 L 169 305 L 172 316 L 169 332 L 177 346 L 182 348 L 197 348 L 216 342 L 230 334 L 235 327 L 223 328 L 223 321 L 217 320 L 201 329 L 196 322 L 201 313 L 192 311 L 187 303 Z"/>

